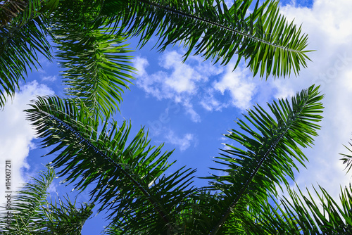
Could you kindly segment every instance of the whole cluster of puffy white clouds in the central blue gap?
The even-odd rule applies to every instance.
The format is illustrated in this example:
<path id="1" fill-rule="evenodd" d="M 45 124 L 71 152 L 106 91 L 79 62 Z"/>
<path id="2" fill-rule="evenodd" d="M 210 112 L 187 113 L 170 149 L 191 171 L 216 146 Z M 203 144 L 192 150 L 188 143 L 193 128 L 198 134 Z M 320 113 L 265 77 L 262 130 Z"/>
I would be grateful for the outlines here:
<path id="1" fill-rule="evenodd" d="M 201 121 L 194 105 L 208 111 L 228 106 L 244 110 L 251 105 L 256 91 L 256 84 L 248 79 L 251 76 L 248 70 L 239 68 L 232 71 L 233 64 L 224 69 L 208 61 L 203 62 L 199 56 L 190 57 L 182 63 L 182 53 L 178 51 L 165 52 L 159 59 L 160 70 L 157 72 L 146 72 L 149 66 L 146 58 L 137 57 L 134 66 L 139 70 L 138 87 L 158 100 L 170 99 L 180 103 L 194 122 Z M 225 101 L 215 98 L 227 92 L 230 97 Z"/>

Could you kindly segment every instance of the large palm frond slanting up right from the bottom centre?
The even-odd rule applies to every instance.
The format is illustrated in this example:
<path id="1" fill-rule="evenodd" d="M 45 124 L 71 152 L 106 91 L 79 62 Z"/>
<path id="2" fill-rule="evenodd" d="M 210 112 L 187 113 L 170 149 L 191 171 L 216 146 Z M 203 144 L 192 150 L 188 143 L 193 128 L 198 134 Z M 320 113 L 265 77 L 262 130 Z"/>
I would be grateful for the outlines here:
<path id="1" fill-rule="evenodd" d="M 244 115 L 246 122 L 238 120 L 240 130 L 232 129 L 225 134 L 246 148 L 243 150 L 230 144 L 216 157 L 216 163 L 224 168 L 213 168 L 225 175 L 212 174 L 210 189 L 221 191 L 220 210 L 214 212 L 216 225 L 211 234 L 225 229 L 227 217 L 241 216 L 241 210 L 258 209 L 266 201 L 268 193 L 277 195 L 276 187 L 288 179 L 294 179 L 296 162 L 303 165 L 307 160 L 300 147 L 313 143 L 313 136 L 320 128 L 322 116 L 322 96 L 318 87 L 309 87 L 292 97 L 268 104 L 273 116 L 260 106 Z M 295 162 L 296 161 L 296 162 Z M 225 223 L 225 224 L 224 224 Z"/>

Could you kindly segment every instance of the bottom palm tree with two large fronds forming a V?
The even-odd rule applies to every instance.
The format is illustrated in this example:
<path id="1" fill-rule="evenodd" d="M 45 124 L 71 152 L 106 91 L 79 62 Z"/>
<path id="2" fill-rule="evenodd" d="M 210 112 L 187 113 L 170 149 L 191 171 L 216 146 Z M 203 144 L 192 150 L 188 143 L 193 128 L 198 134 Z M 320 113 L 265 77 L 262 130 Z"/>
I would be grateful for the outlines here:
<path id="1" fill-rule="evenodd" d="M 49 155 L 56 153 L 52 166 L 63 182 L 81 191 L 94 185 L 91 200 L 111 221 L 106 234 L 337 234 L 351 229 L 351 189 L 342 191 L 341 207 L 322 189 L 324 212 L 313 197 L 277 196 L 307 160 L 301 148 L 320 128 L 321 99 L 312 86 L 291 102 L 273 101 L 271 115 L 249 110 L 225 135 L 244 148 L 227 145 L 215 160 L 218 174 L 201 188 L 192 186 L 194 170 L 167 171 L 171 153 L 149 146 L 144 129 L 130 139 L 126 122 L 101 126 L 83 101 L 39 97 L 26 111 L 43 146 L 55 146 Z"/>

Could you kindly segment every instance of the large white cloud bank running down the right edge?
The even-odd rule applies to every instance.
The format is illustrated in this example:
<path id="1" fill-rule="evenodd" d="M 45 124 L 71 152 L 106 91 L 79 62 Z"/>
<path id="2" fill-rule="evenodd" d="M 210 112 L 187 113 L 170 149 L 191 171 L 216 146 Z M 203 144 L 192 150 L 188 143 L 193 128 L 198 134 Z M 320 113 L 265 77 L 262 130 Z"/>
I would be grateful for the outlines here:
<path id="1" fill-rule="evenodd" d="M 275 96 L 287 97 L 316 83 L 321 85 L 325 117 L 315 145 L 307 149 L 310 163 L 307 169 L 301 167 L 296 182 L 301 189 L 312 189 L 320 184 L 337 200 L 340 185 L 351 182 L 351 174 L 343 171 L 341 155 L 348 153 L 342 144 L 348 144 L 352 137 L 352 1 L 319 0 L 313 8 L 285 6 L 282 13 L 289 20 L 295 18 L 309 37 L 309 53 L 312 63 L 301 71 L 300 77 L 270 82 L 277 87 Z"/>

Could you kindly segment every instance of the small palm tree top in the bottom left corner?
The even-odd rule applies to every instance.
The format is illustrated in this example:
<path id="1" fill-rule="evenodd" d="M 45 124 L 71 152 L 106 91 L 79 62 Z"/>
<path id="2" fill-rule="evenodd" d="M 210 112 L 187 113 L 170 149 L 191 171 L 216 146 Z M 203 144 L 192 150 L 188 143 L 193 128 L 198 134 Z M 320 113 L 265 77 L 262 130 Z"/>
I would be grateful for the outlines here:
<path id="1" fill-rule="evenodd" d="M 54 177 L 54 170 L 48 167 L 11 198 L 10 208 L 1 212 L 1 234 L 81 234 L 94 204 L 76 208 L 75 202 L 65 197 L 65 201 L 47 201 L 47 189 Z"/>

